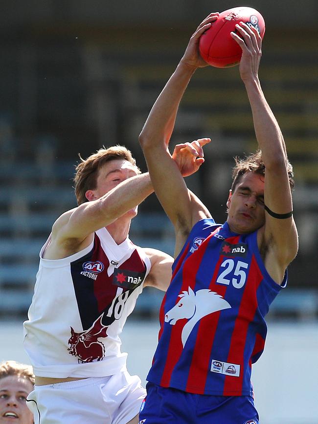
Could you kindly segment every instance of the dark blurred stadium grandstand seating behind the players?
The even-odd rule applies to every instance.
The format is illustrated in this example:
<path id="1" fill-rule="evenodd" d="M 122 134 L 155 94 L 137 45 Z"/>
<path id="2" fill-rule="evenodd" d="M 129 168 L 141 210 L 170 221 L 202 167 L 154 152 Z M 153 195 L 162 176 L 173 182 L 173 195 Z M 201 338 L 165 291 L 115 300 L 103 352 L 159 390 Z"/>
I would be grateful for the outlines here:
<path id="1" fill-rule="evenodd" d="M 119 143 L 146 170 L 138 134 L 189 34 L 211 7 L 199 0 L 176 1 L 173 10 L 167 0 L 154 3 L 154 8 L 142 0 L 125 2 L 125 8 L 120 2 L 98 1 L 92 8 L 70 0 L 6 4 L 0 29 L 1 316 L 26 315 L 39 250 L 55 219 L 76 205 L 72 177 L 78 153 L 85 157 Z M 232 3 L 215 1 L 213 7 L 223 10 Z M 278 296 L 271 316 L 317 318 L 318 26 L 312 12 L 317 3 L 307 1 L 299 10 L 295 1 L 255 0 L 252 7 L 266 21 L 260 79 L 294 165 L 300 241 L 289 290 Z M 212 143 L 189 186 L 222 222 L 230 186 L 224 175 L 230 175 L 233 156 L 256 148 L 237 67 L 207 67 L 193 77 L 172 144 L 201 136 Z M 131 239 L 173 252 L 173 228 L 155 195 L 140 206 Z M 161 297 L 145 290 L 136 313 L 157 314 Z"/>

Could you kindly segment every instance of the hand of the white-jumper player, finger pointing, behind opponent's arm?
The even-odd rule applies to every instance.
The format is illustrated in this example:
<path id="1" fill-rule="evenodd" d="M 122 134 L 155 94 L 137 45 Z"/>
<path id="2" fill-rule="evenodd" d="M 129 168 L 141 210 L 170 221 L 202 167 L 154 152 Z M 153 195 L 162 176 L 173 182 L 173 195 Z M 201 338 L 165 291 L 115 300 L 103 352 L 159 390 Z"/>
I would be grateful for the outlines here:
<path id="1" fill-rule="evenodd" d="M 210 141 L 210 138 L 199 138 L 192 143 L 176 145 L 172 158 L 177 163 L 182 177 L 188 177 L 198 171 L 204 162 L 203 146 Z"/>

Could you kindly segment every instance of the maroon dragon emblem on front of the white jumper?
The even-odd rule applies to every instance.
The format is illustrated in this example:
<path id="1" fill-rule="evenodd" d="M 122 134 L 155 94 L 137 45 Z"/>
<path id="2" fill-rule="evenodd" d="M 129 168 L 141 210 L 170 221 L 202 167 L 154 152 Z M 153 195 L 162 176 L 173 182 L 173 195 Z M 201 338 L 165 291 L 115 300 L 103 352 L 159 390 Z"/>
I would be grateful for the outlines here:
<path id="1" fill-rule="evenodd" d="M 104 312 L 96 319 L 91 328 L 81 333 L 76 333 L 70 327 L 68 353 L 78 357 L 79 363 L 100 361 L 105 355 L 104 344 L 98 340 L 99 337 L 107 337 L 108 326 L 102 324 L 103 314 Z"/>

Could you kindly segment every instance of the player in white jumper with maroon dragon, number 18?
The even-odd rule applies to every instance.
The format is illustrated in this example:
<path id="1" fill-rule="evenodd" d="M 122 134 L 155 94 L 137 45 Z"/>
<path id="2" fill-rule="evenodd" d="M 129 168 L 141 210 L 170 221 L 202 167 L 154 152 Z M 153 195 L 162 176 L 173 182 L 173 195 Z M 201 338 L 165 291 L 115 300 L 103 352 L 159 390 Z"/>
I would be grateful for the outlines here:
<path id="1" fill-rule="evenodd" d="M 186 176 L 204 159 L 189 159 L 184 146 L 173 157 Z M 166 290 L 173 262 L 128 237 L 137 205 L 152 192 L 149 174 L 122 146 L 100 149 L 77 166 L 79 206 L 57 219 L 41 249 L 23 324 L 36 375 L 27 398 L 35 424 L 138 423 L 145 390 L 127 372 L 119 336 L 143 287 Z"/>

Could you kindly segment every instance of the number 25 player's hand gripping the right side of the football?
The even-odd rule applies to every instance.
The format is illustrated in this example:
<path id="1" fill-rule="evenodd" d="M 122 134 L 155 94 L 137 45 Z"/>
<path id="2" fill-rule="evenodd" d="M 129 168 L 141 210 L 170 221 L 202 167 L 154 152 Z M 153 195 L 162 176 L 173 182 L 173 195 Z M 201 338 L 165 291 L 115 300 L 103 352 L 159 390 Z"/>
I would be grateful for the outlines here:
<path id="1" fill-rule="evenodd" d="M 262 56 L 262 38 L 254 26 L 250 27 L 244 22 L 235 25 L 238 34 L 231 32 L 231 37 L 242 48 L 240 61 L 240 75 L 244 81 L 258 78 L 258 68 Z"/>

